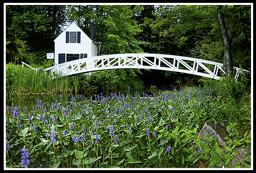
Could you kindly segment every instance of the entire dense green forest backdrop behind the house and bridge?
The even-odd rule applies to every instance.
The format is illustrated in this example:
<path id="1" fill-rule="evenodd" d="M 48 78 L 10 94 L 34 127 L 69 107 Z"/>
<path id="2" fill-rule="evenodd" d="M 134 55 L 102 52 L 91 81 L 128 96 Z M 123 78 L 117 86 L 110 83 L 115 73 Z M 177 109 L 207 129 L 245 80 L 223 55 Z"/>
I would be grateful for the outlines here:
<path id="1" fill-rule="evenodd" d="M 98 45 L 98 55 L 171 54 L 251 71 L 251 5 L 5 5 L 5 63 L 54 65 L 55 38 L 75 21 Z M 93 23 L 93 32 L 91 30 Z M 145 85 L 194 84 L 198 76 L 161 70 L 112 70 Z M 105 79 L 102 78 L 103 81 Z"/>

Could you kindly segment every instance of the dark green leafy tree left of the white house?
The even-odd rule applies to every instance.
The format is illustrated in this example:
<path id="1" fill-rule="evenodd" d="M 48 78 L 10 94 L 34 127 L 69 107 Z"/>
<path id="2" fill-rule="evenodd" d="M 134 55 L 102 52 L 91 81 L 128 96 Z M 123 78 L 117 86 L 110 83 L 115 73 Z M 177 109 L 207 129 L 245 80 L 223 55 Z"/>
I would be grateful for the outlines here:
<path id="1" fill-rule="evenodd" d="M 65 23 L 65 8 L 65 5 L 6 5 L 8 52 L 15 52 L 11 49 L 16 48 L 10 47 L 10 43 L 20 40 L 26 46 L 25 61 L 28 62 L 28 56 L 36 55 L 34 62 L 29 63 L 40 63 L 46 58 L 46 52 L 53 49 L 53 40 L 59 35 L 60 26 Z M 6 61 L 10 62 L 14 57 L 8 52 Z"/>

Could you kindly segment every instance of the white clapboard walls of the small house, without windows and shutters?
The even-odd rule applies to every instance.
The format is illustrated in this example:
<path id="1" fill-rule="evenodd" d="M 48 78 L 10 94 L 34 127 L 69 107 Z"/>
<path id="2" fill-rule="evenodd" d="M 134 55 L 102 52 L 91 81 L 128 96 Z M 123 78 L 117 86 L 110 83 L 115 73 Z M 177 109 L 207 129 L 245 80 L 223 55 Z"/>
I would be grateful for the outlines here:
<path id="1" fill-rule="evenodd" d="M 81 32 L 81 43 L 66 43 L 66 32 Z M 72 22 L 55 40 L 55 64 L 59 64 L 59 54 L 87 54 L 97 56 L 97 45 L 76 23 Z"/>

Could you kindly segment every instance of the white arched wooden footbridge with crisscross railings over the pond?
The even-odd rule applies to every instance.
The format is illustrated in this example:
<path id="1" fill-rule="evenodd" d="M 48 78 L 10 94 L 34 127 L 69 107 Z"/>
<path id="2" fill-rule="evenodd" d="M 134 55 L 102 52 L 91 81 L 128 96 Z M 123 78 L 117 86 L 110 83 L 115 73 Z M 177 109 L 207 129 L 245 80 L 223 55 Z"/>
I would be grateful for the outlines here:
<path id="1" fill-rule="evenodd" d="M 66 76 L 98 70 L 140 68 L 168 70 L 220 79 L 220 73 L 225 74 L 222 67 L 222 63 L 185 56 L 165 54 L 111 54 L 61 63 L 45 68 L 44 71 L 50 70 L 52 73 Z M 237 67 L 234 67 L 234 70 L 236 71 L 236 79 L 241 71 L 246 71 Z"/>

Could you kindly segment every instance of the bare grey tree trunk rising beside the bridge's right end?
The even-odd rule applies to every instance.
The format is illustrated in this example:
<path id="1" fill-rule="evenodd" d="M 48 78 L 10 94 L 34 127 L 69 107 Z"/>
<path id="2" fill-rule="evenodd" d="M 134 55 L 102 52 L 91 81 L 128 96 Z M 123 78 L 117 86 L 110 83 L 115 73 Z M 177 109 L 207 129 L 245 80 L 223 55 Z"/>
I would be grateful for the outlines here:
<path id="1" fill-rule="evenodd" d="M 220 30 L 224 39 L 224 50 L 225 55 L 223 57 L 223 70 L 225 71 L 226 75 L 232 77 L 233 75 L 233 62 L 232 62 L 232 54 L 231 54 L 231 43 L 234 33 L 233 25 L 230 26 L 230 34 L 228 34 L 228 29 L 225 24 L 225 18 L 223 13 L 221 12 L 222 6 L 216 5 L 216 9 L 218 12 L 218 21 L 220 23 Z"/>

